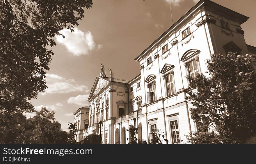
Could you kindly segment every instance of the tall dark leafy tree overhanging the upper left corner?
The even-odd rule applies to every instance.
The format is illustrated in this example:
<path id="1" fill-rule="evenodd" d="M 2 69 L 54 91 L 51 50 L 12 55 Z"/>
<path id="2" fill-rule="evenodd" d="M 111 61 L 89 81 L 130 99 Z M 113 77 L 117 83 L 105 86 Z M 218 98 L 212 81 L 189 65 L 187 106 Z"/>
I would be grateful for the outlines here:
<path id="1" fill-rule="evenodd" d="M 3 0 L 0 2 L 0 109 L 33 112 L 28 99 L 47 88 L 56 45 L 64 28 L 74 32 L 92 0 Z M 62 35 L 63 36 L 63 35 Z M 64 37 L 64 36 L 63 36 Z"/>

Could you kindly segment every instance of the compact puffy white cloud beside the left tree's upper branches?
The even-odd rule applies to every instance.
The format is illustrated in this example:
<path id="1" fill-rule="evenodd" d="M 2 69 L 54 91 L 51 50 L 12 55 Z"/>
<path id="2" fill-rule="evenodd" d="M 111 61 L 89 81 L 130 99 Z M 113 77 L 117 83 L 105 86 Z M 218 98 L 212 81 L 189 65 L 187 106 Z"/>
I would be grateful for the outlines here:
<path id="1" fill-rule="evenodd" d="M 67 50 L 74 56 L 89 55 L 92 50 L 95 49 L 96 45 L 93 41 L 93 35 L 90 31 L 83 32 L 78 28 L 74 28 L 74 32 L 68 29 L 59 31 L 65 36 L 55 36 L 58 43 L 65 45 Z"/>

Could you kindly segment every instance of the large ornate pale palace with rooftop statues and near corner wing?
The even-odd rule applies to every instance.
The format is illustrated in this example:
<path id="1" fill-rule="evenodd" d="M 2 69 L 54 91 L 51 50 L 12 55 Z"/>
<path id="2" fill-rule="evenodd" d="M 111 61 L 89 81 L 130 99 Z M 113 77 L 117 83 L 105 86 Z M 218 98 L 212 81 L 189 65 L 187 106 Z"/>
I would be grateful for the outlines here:
<path id="1" fill-rule="evenodd" d="M 202 132 L 189 114 L 191 101 L 183 91 L 189 81 L 207 71 L 212 53 L 238 52 L 255 56 L 246 45 L 241 24 L 248 17 L 209 0 L 200 0 L 166 32 L 147 47 L 135 61 L 141 73 L 132 80 L 106 77 L 104 66 L 90 92 L 89 127 L 81 136 L 99 134 L 102 120 L 104 143 L 128 143 L 130 127 L 138 139 L 150 141 L 152 132 L 168 143 L 187 143 L 186 135 Z M 209 76 L 209 75 L 208 75 Z"/>

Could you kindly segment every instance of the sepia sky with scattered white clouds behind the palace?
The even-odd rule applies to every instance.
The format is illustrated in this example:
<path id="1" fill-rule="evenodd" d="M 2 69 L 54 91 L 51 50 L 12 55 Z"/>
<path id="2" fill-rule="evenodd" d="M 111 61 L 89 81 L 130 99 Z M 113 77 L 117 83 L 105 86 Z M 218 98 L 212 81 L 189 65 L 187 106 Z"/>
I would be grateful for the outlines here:
<path id="1" fill-rule="evenodd" d="M 213 0 L 250 17 L 241 27 L 247 44 L 256 46 L 255 0 Z M 101 63 L 113 70 L 113 77 L 132 79 L 140 73 L 134 59 L 177 21 L 198 0 L 93 0 L 85 17 L 65 38 L 55 37 L 57 46 L 49 65 L 48 89 L 31 100 L 36 110 L 46 107 L 55 112 L 61 129 L 74 122 L 73 112 L 88 105 L 87 99 Z M 107 76 L 109 72 L 107 71 Z M 34 113 L 32 114 L 32 116 Z M 31 114 L 26 114 L 30 117 Z"/>

